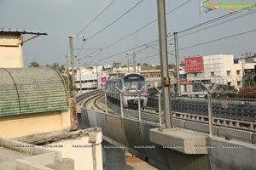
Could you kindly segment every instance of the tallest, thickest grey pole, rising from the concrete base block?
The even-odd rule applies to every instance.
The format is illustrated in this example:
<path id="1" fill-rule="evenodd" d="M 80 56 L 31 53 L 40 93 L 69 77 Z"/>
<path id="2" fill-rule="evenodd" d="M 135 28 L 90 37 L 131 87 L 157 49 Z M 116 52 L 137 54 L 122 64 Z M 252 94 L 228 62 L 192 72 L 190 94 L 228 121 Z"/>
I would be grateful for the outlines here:
<path id="1" fill-rule="evenodd" d="M 157 0 L 158 30 L 160 44 L 161 83 L 163 92 L 163 111 L 166 117 L 166 128 L 172 127 L 172 111 L 170 99 L 170 77 L 166 41 L 166 4 L 165 0 Z"/>

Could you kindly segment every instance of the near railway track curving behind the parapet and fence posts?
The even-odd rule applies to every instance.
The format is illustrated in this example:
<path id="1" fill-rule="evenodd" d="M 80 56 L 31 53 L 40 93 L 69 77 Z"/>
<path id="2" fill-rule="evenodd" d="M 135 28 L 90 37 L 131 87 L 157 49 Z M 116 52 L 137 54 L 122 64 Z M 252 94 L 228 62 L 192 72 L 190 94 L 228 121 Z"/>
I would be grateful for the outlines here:
<path id="1" fill-rule="evenodd" d="M 89 94 L 83 94 L 77 98 L 77 102 L 79 107 L 92 109 L 96 111 L 101 111 L 106 113 L 106 105 L 104 102 L 104 94 L 102 90 L 97 90 L 94 92 L 91 92 Z M 173 102 L 173 99 L 172 99 Z M 193 104 L 193 102 L 192 102 Z M 182 106 L 179 106 L 182 107 Z M 198 106 L 200 108 L 200 106 Z M 197 108 L 197 109 L 198 109 Z M 203 107 L 205 110 L 207 108 Z M 129 117 L 131 119 L 139 119 L 138 111 L 132 110 L 132 109 L 125 109 L 124 108 L 124 116 Z M 108 102 L 108 114 L 113 115 L 119 115 L 120 116 L 120 109 L 118 105 L 113 105 Z M 234 113 L 233 116 L 236 116 Z M 253 116 L 252 116 L 253 117 Z M 141 111 L 141 121 L 142 122 L 150 122 L 154 124 L 160 125 L 161 122 L 164 122 L 165 117 L 163 116 L 163 113 L 159 113 L 158 109 L 155 109 L 154 107 L 145 107 Z M 203 133 L 207 133 L 208 131 L 208 117 L 206 114 L 196 114 L 195 108 L 192 107 L 191 111 L 189 112 L 188 109 L 184 109 L 182 111 L 173 111 L 172 110 L 172 119 L 173 124 L 176 127 L 185 127 L 185 123 L 187 124 L 198 124 L 200 126 L 191 129 L 200 131 Z M 247 133 L 256 133 L 256 122 L 253 121 L 245 121 L 245 120 L 239 120 L 239 119 L 230 119 L 226 117 L 213 117 L 213 126 L 214 127 L 223 127 L 228 128 L 230 131 L 235 130 L 237 132 L 247 132 Z M 193 128 L 193 126 L 192 126 Z M 218 133 L 218 132 L 215 132 Z M 234 132 L 233 132 L 234 133 Z M 236 133 L 236 132 L 235 132 Z M 237 134 L 239 135 L 239 134 Z M 230 136 L 227 134 L 227 136 Z M 251 139 L 246 139 L 247 142 Z M 249 141 L 249 143 L 254 143 L 253 139 Z"/>

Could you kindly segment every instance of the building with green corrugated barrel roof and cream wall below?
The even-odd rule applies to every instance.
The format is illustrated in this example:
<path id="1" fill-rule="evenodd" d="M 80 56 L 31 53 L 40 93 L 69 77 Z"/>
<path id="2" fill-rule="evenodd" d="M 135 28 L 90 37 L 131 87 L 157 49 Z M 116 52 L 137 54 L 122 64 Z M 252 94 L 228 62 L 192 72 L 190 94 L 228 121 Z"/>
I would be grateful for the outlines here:
<path id="1" fill-rule="evenodd" d="M 0 68 L 0 137 L 70 130 L 66 84 L 49 67 Z"/>

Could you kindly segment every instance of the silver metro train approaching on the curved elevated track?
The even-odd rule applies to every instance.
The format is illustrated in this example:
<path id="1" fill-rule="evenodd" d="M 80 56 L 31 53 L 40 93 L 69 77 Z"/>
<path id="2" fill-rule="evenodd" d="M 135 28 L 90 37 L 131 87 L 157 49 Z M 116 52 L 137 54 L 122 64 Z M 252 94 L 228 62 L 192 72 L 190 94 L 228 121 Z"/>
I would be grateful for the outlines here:
<path id="1" fill-rule="evenodd" d="M 141 106 L 148 104 L 148 91 L 147 82 L 145 77 L 137 73 L 127 74 L 124 77 L 110 78 L 107 81 L 107 97 L 108 100 L 119 105 L 120 95 L 119 91 L 124 89 L 122 92 L 122 103 L 124 107 L 132 107 L 138 105 L 138 92 L 141 95 Z M 137 90 L 135 89 L 137 88 Z"/>

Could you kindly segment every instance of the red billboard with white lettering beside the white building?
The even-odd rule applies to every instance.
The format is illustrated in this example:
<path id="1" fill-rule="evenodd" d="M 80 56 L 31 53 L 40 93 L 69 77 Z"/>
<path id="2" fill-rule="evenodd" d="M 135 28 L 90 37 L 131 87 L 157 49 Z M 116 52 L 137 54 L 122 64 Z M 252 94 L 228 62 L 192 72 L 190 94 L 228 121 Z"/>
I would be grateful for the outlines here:
<path id="1" fill-rule="evenodd" d="M 204 71 L 204 62 L 202 56 L 185 58 L 185 71 L 186 73 Z"/>

